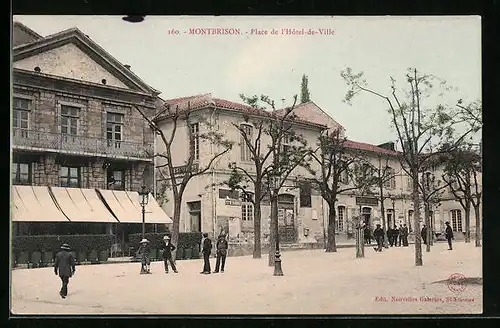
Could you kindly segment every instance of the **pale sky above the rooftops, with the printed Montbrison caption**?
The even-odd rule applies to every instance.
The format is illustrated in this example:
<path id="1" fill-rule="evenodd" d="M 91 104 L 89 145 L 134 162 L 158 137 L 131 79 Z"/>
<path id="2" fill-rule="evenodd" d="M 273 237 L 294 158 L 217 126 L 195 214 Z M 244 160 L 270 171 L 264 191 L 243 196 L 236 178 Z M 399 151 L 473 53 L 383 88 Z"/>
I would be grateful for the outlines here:
<path id="1" fill-rule="evenodd" d="M 201 17 L 147 16 L 138 24 L 120 16 L 15 16 L 42 36 L 77 27 L 131 69 L 163 99 L 212 93 L 266 94 L 277 104 L 300 98 L 303 74 L 313 100 L 347 130 L 349 139 L 395 141 L 386 105 L 369 95 L 342 102 L 340 71 L 364 71 L 373 89 L 387 92 L 390 76 L 404 81 L 408 67 L 437 75 L 458 89 L 447 97 L 481 99 L 479 16 L 432 17 Z M 190 35 L 190 28 L 233 28 L 241 35 Z M 331 29 L 334 35 L 251 35 L 284 28 Z M 178 35 L 168 33 L 179 30 Z M 248 32 L 248 33 L 247 33 Z M 433 105 L 433 104 L 429 104 Z"/>

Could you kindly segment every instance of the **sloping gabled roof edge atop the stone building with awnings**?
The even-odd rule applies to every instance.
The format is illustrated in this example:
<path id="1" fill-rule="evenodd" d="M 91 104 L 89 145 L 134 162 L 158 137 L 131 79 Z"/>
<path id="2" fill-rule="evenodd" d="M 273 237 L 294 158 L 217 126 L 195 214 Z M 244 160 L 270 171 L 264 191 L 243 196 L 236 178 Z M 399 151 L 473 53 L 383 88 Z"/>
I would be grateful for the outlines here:
<path id="1" fill-rule="evenodd" d="M 19 23 L 20 24 L 20 23 Z M 26 27 L 27 28 L 27 27 Z M 42 37 L 34 42 L 20 44 L 13 48 L 13 61 L 20 60 L 26 57 L 36 55 L 49 49 L 57 48 L 67 43 L 74 43 L 83 51 L 93 54 L 98 58 L 100 64 L 107 66 L 110 72 L 117 77 L 126 80 L 128 84 L 132 84 L 136 89 L 150 94 L 158 95 L 161 92 L 152 88 L 141 78 L 135 75 L 130 69 L 126 68 L 121 62 L 94 42 L 90 37 L 84 34 L 76 27 Z"/>

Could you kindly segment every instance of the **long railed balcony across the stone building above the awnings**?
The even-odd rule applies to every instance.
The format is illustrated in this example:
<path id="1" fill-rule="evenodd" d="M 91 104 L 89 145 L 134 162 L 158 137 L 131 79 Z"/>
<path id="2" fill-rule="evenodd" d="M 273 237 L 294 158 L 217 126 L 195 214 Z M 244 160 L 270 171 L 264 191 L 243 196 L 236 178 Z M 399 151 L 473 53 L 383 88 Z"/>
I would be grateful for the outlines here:
<path id="1" fill-rule="evenodd" d="M 148 153 L 153 153 L 152 146 L 146 146 L 139 142 L 115 141 L 23 129 L 13 130 L 12 148 L 15 150 L 142 160 L 149 159 Z"/>

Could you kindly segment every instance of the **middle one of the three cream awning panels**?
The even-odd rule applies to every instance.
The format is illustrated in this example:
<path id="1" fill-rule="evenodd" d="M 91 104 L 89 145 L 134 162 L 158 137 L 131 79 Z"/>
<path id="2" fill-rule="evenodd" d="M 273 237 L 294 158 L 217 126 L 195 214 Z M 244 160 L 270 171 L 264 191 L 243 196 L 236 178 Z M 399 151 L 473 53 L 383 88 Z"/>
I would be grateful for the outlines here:
<path id="1" fill-rule="evenodd" d="M 50 190 L 71 222 L 118 222 L 94 189 L 51 187 Z"/>

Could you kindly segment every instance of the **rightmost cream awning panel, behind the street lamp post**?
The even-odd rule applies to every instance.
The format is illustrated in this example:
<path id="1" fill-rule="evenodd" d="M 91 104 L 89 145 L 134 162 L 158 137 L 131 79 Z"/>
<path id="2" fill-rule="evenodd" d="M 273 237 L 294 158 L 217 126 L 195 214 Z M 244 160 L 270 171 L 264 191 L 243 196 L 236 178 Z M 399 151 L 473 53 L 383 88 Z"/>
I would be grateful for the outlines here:
<path id="1" fill-rule="evenodd" d="M 139 204 L 139 194 L 122 190 L 98 190 L 118 220 L 122 223 L 142 223 L 142 208 Z M 172 223 L 172 220 L 160 208 L 150 195 L 146 206 L 146 223 Z"/>

